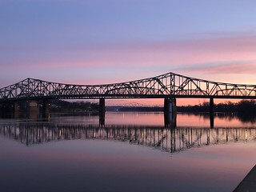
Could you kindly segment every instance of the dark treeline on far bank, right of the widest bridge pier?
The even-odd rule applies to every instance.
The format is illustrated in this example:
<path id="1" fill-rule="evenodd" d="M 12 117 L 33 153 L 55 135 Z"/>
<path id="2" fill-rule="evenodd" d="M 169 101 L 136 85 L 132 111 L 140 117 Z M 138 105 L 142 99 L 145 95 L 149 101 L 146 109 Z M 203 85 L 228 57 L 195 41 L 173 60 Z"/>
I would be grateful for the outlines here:
<path id="1" fill-rule="evenodd" d="M 207 112 L 210 103 L 203 102 L 196 106 L 178 106 L 178 112 Z M 230 112 L 238 114 L 256 114 L 256 102 L 254 100 L 242 100 L 240 102 L 224 102 L 214 104 L 215 112 Z"/>

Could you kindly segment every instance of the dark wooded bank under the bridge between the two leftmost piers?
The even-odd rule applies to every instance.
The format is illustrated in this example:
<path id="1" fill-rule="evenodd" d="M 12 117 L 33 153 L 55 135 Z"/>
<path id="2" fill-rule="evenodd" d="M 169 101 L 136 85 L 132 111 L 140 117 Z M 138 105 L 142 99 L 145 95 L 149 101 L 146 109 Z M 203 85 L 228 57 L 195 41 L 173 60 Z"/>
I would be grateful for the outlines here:
<path id="1" fill-rule="evenodd" d="M 50 101 L 50 110 L 52 112 L 98 112 L 98 103 L 92 102 L 67 102 L 54 99 Z"/>

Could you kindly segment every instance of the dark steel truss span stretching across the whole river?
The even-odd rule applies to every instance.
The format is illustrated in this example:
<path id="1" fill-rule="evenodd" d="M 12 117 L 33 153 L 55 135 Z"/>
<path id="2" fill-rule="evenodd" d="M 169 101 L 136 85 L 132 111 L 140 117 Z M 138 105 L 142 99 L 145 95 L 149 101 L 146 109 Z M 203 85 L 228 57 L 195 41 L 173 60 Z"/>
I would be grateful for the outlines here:
<path id="1" fill-rule="evenodd" d="M 256 85 L 212 82 L 167 73 L 106 85 L 71 85 L 34 78 L 0 89 L 0 101 L 68 98 L 256 98 Z"/>

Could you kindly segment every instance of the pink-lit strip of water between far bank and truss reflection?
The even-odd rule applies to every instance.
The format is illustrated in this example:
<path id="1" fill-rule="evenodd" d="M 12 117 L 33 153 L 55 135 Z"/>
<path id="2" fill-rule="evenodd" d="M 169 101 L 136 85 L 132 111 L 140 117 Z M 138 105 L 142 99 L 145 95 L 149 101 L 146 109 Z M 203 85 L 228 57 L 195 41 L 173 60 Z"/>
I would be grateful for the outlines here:
<path id="1" fill-rule="evenodd" d="M 32 113 L 33 114 L 33 113 Z M 14 118 L 6 117 L 6 120 Z M 142 126 L 166 126 L 175 128 L 175 126 L 202 126 L 216 128 L 216 127 L 256 127 L 255 115 L 249 114 L 234 114 L 234 113 L 178 113 L 175 118 L 168 116 L 162 112 L 107 112 L 104 117 L 99 117 L 94 113 L 56 113 L 50 114 L 46 118 L 41 115 L 34 114 L 32 116 L 26 116 L 21 114 L 19 118 L 14 118 L 14 121 L 18 120 L 32 121 L 32 122 L 52 122 L 57 120 L 58 122 L 77 122 L 81 124 L 97 124 L 104 126 L 109 124 L 118 125 L 142 125 Z M 174 119 L 174 121 L 171 121 Z M 4 120 L 1 119 L 0 120 Z"/>

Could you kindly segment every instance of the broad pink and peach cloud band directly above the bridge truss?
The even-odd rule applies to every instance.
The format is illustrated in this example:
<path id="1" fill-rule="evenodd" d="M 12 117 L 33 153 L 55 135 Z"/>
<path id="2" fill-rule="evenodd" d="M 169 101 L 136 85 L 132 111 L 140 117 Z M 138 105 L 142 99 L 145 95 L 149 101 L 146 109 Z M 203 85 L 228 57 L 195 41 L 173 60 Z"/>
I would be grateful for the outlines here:
<path id="1" fill-rule="evenodd" d="M 13 72 L 12 76 L 18 80 L 46 77 L 49 81 L 65 79 L 65 82 L 94 84 L 124 82 L 173 71 L 196 78 L 209 78 L 212 74 L 212 80 L 229 82 L 234 82 L 238 74 L 247 82 L 241 76 L 250 74 L 251 82 L 256 82 L 254 35 L 94 46 L 73 44 L 58 49 L 26 46 L 16 47 L 14 51 L 12 46 L 6 50 L 0 47 L 2 76 L 15 69 L 18 74 Z"/>

